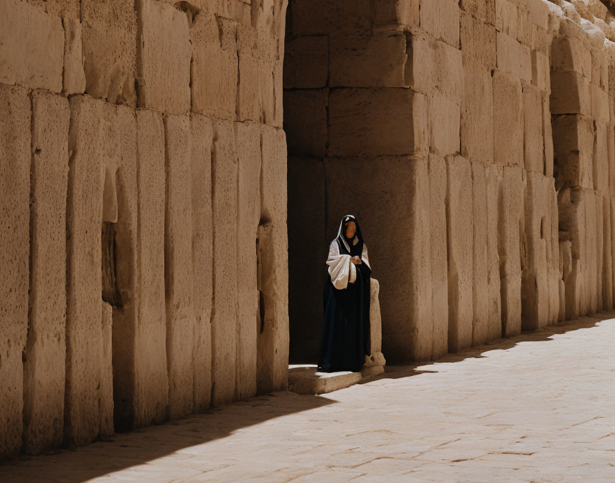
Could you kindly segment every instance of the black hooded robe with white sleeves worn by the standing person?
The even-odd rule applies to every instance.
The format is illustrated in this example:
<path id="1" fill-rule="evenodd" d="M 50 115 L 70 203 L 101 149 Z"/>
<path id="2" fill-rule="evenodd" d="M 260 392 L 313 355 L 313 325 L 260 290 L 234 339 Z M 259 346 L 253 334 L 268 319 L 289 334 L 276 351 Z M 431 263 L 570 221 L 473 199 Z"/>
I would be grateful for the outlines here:
<path id="1" fill-rule="evenodd" d="M 356 224 L 356 235 L 346 238 L 345 224 Z M 352 257 L 362 263 L 354 265 Z M 347 215 L 329 246 L 325 282 L 325 327 L 318 370 L 333 373 L 362 369 L 369 355 L 369 301 L 371 268 L 367 247 L 355 217 Z"/>

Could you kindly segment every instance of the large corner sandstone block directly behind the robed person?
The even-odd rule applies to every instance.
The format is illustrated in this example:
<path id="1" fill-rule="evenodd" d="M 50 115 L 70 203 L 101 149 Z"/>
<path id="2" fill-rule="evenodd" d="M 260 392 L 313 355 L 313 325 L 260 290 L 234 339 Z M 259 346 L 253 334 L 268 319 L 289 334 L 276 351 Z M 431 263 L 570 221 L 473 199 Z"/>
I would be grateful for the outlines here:
<path id="1" fill-rule="evenodd" d="M 432 287 L 428 161 L 394 158 L 327 158 L 327 242 L 348 207 L 361 224 L 373 276 L 380 282 L 382 347 L 386 360 L 408 362 L 432 352 Z M 370 182 L 353 189 L 351 169 Z M 392 183 L 403 179 L 404 183 Z M 393 189 L 391 189 L 393 187 Z M 402 211 L 391 206 L 404 206 Z M 386 231 L 382 227 L 386 226 Z M 411 227 L 411 228 L 410 228 Z M 409 249 L 395 250 L 403 244 Z M 322 263 L 322 261 L 321 261 Z M 324 274 L 323 274 L 324 275 Z"/>

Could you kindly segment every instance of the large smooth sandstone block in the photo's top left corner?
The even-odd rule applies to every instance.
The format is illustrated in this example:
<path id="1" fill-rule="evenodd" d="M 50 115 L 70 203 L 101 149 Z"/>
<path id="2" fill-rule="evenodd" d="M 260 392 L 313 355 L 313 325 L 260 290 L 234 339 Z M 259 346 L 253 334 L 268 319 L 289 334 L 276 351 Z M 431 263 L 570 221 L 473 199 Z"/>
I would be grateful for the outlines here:
<path id="1" fill-rule="evenodd" d="M 62 91 L 62 19 L 25 1 L 0 1 L 0 82 Z"/>

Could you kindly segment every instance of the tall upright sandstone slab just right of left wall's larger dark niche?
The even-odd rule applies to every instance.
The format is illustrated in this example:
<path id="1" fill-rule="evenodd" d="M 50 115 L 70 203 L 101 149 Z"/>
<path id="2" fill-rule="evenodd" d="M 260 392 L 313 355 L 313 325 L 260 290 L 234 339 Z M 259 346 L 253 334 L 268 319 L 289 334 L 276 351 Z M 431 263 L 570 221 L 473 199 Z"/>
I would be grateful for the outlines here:
<path id="1" fill-rule="evenodd" d="M 135 334 L 135 421 L 161 423 L 169 405 L 165 305 L 165 127 L 161 114 L 137 110 L 139 325 Z"/>

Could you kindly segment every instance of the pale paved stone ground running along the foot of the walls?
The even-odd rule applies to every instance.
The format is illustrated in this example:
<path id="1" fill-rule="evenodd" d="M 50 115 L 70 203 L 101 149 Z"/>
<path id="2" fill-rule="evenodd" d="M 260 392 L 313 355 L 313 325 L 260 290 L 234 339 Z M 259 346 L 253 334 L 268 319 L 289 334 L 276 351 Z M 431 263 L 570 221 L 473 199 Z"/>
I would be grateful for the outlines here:
<path id="1" fill-rule="evenodd" d="M 612 317 L 7 464 L 0 481 L 615 482 Z"/>

